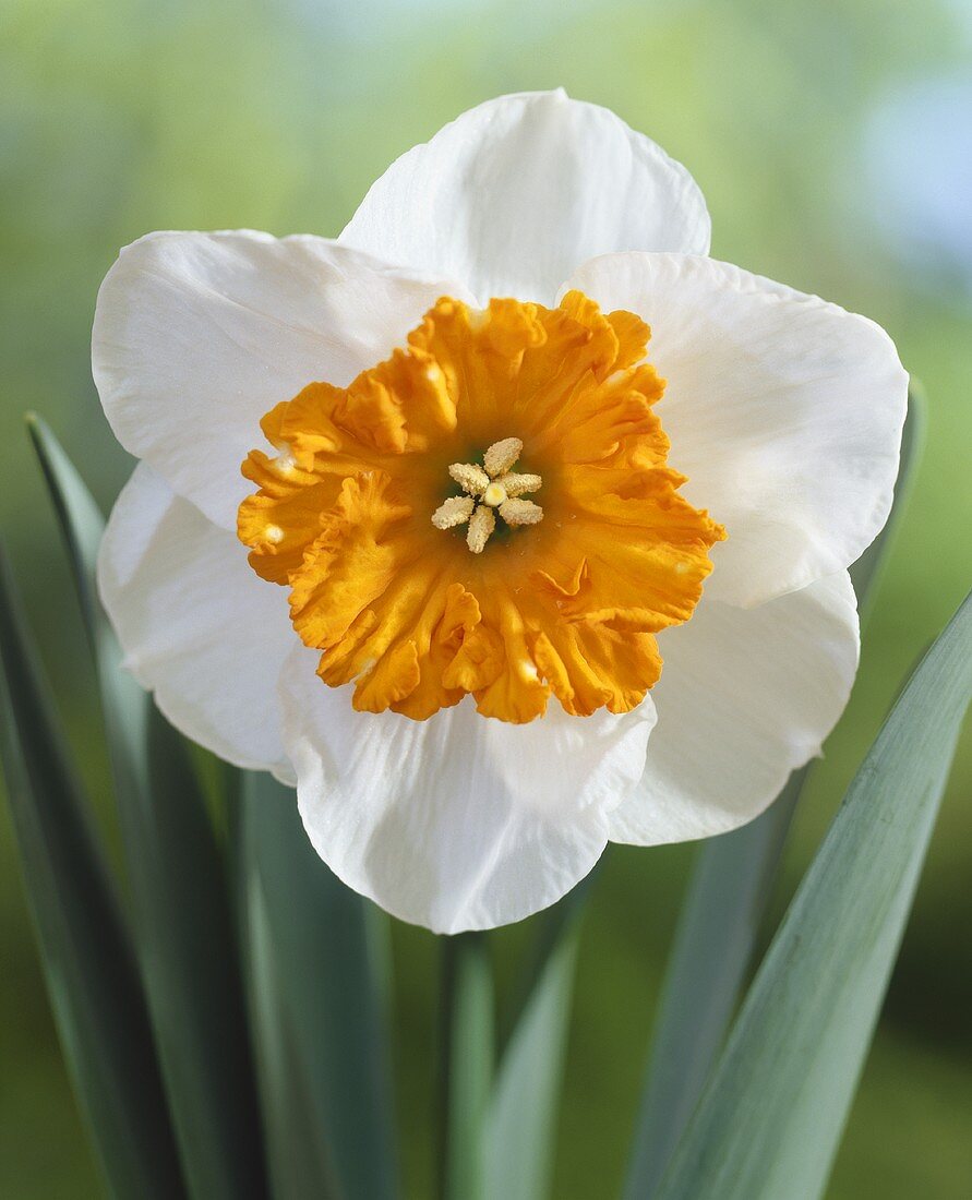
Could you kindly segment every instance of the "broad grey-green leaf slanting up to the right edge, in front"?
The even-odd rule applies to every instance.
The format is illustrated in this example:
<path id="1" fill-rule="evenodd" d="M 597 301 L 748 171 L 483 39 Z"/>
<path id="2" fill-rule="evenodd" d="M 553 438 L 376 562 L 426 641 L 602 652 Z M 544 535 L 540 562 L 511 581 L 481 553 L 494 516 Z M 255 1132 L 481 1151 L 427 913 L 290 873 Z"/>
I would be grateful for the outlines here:
<path id="1" fill-rule="evenodd" d="M 660 1200 L 822 1195 L 972 695 L 972 598 L 894 706 L 745 998 Z"/>

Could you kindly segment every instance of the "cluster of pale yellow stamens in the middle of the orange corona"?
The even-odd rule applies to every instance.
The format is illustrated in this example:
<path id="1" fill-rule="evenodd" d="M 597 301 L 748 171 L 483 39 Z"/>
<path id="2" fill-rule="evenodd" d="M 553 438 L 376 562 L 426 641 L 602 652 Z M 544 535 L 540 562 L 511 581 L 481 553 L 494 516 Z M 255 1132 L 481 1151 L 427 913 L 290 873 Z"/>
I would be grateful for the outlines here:
<path id="1" fill-rule="evenodd" d="M 544 520 L 544 510 L 523 497 L 538 492 L 544 482 L 539 475 L 512 473 L 523 443 L 520 438 L 503 438 L 494 442 L 482 456 L 482 466 L 470 462 L 454 462 L 449 474 L 460 485 L 464 496 L 450 496 L 432 514 L 437 529 L 452 529 L 468 524 L 466 545 L 474 554 L 481 554 L 496 529 L 496 511 L 508 526 L 538 524 Z"/>

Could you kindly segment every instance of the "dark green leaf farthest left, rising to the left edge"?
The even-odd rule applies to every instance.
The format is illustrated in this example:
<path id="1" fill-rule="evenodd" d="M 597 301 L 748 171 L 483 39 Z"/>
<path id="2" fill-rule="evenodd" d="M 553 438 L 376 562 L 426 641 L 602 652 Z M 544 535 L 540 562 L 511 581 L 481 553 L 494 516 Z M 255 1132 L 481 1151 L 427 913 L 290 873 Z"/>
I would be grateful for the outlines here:
<path id="1" fill-rule="evenodd" d="M 54 1019 L 113 1196 L 185 1195 L 145 1000 L 0 547 L 0 748 Z"/>

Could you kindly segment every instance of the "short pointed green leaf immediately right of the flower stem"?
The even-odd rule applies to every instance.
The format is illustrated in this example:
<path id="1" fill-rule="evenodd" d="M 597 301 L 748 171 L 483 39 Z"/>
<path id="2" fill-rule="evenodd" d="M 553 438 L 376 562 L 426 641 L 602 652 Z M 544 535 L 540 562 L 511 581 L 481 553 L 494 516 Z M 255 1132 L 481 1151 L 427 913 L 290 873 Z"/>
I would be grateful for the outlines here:
<path id="1" fill-rule="evenodd" d="M 577 892 L 577 889 L 575 889 Z M 574 893 L 497 1070 L 486 1126 L 487 1196 L 550 1195 L 584 892 Z"/>

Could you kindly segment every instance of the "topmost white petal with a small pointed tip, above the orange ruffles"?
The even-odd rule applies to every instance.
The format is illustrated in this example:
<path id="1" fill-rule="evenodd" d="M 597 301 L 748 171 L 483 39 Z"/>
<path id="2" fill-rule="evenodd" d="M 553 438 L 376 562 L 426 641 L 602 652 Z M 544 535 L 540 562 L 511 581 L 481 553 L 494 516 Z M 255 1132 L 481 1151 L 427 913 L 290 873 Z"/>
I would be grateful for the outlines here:
<path id="1" fill-rule="evenodd" d="M 402 155 L 341 234 L 479 296 L 550 304 L 586 258 L 708 253 L 691 175 L 606 108 L 564 91 L 500 96 Z"/>

